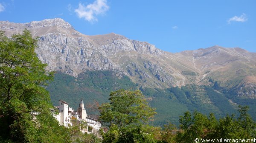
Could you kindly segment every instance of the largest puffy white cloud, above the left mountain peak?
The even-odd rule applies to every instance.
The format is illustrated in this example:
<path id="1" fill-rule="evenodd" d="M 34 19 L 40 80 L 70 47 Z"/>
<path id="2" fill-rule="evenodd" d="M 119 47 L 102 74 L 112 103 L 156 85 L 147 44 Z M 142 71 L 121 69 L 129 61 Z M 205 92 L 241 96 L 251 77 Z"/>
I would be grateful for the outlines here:
<path id="1" fill-rule="evenodd" d="M 75 9 L 79 18 L 84 18 L 89 22 L 98 21 L 97 15 L 104 14 L 108 10 L 107 0 L 95 0 L 93 3 L 84 6 L 79 3 L 79 7 Z"/>

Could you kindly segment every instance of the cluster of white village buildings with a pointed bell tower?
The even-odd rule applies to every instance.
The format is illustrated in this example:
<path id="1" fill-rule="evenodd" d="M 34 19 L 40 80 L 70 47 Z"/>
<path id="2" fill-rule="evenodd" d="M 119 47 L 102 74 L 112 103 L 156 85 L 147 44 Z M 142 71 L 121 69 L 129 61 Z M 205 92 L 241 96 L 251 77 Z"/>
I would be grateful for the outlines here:
<path id="1" fill-rule="evenodd" d="M 59 114 L 55 115 L 55 118 L 59 121 L 60 125 L 66 127 L 72 126 L 72 121 L 75 120 L 78 122 L 85 121 L 88 126 L 92 127 L 92 131 L 89 132 L 87 127 L 87 129 L 83 130 L 82 132 L 91 133 L 98 131 L 101 128 L 101 123 L 97 121 L 96 115 L 87 116 L 82 99 L 77 111 L 69 107 L 68 103 L 62 100 L 59 100 L 59 106 L 56 108 L 59 110 Z"/>

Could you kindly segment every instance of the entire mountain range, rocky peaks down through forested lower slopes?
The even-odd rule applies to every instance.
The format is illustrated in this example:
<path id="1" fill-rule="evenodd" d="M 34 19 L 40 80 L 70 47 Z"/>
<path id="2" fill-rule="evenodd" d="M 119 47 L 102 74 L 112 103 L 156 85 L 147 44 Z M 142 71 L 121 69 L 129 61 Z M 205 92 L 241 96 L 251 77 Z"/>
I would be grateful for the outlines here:
<path id="1" fill-rule="evenodd" d="M 61 99 L 74 107 L 80 98 L 103 103 L 113 90 L 140 89 L 157 109 L 155 125 L 177 124 L 195 109 L 222 117 L 238 105 L 249 105 L 256 119 L 256 53 L 218 45 L 169 53 L 119 34 L 84 35 L 60 18 L 0 22 L 8 36 L 24 28 L 38 37 L 35 52 L 55 71 L 47 87 L 53 104 Z"/>

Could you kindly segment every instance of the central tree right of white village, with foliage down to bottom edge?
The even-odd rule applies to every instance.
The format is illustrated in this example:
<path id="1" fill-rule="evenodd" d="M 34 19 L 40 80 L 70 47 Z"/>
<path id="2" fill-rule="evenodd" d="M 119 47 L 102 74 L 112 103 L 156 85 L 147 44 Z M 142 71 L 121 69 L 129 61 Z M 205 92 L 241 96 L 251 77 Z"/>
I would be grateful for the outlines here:
<path id="1" fill-rule="evenodd" d="M 110 93 L 109 100 L 99 107 L 99 118 L 109 127 L 107 132 L 101 132 L 102 143 L 156 142 L 153 132 L 149 132 L 155 129 L 144 126 L 156 112 L 140 90 L 117 90 Z"/>

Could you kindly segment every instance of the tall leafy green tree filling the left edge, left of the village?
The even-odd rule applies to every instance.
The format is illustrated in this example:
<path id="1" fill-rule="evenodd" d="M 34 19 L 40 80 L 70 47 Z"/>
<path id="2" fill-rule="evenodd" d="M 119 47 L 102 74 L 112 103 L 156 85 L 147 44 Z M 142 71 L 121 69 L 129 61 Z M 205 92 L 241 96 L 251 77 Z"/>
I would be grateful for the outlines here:
<path id="1" fill-rule="evenodd" d="M 28 30 L 8 38 L 0 32 L 0 140 L 57 143 L 66 129 L 52 116 L 44 85 L 52 79 L 35 53 L 37 39 Z M 62 132 L 63 131 L 63 132 Z"/>

